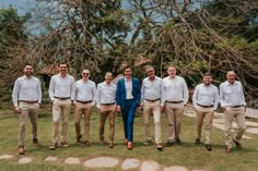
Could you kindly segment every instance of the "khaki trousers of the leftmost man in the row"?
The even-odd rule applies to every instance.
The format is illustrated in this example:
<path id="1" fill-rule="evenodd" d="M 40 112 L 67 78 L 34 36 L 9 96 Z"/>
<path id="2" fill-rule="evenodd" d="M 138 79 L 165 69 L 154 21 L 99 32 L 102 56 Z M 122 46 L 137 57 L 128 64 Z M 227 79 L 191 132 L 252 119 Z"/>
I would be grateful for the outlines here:
<path id="1" fill-rule="evenodd" d="M 33 138 L 37 138 L 37 114 L 39 105 L 20 101 L 19 107 L 21 108 L 21 113 L 19 114 L 19 146 L 24 146 L 26 131 L 25 125 L 28 115 L 32 123 L 32 136 Z"/>

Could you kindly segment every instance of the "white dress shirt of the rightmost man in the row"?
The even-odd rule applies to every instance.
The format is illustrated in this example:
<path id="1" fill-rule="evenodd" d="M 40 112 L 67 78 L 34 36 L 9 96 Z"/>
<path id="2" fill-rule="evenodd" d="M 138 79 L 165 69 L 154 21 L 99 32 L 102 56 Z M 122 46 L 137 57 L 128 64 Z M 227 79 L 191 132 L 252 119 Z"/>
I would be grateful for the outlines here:
<path id="1" fill-rule="evenodd" d="M 245 106 L 245 95 L 241 82 L 230 84 L 227 81 L 220 85 L 220 103 L 222 107 Z"/>

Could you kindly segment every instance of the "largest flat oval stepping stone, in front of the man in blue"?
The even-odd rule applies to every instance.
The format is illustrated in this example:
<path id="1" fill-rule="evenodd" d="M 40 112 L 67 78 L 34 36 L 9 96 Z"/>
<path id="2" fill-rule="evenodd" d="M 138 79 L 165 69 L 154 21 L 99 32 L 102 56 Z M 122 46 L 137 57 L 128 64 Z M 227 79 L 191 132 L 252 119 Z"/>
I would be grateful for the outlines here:
<path id="1" fill-rule="evenodd" d="M 112 157 L 98 157 L 86 160 L 83 167 L 87 168 L 115 168 L 117 167 L 119 160 Z"/>

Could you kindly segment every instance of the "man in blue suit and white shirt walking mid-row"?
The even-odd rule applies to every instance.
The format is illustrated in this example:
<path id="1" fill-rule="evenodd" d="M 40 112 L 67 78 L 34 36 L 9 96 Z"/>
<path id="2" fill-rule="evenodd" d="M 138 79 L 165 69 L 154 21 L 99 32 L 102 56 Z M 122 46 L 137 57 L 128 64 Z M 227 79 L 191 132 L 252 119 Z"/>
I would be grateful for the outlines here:
<path id="1" fill-rule="evenodd" d="M 140 105 L 141 87 L 138 78 L 131 76 L 131 68 L 125 69 L 125 77 L 117 83 L 116 103 L 117 111 L 121 111 L 125 131 L 125 144 L 132 149 L 133 120 L 137 107 Z"/>

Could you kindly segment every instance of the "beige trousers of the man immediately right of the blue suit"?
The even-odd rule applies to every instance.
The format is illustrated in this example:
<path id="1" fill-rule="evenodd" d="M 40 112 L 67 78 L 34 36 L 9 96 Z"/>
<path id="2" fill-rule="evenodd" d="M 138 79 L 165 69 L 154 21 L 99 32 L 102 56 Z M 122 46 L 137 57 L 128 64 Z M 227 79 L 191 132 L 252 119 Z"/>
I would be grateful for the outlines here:
<path id="1" fill-rule="evenodd" d="M 153 113 L 154 124 L 155 124 L 155 142 L 162 143 L 161 139 L 161 108 L 160 100 L 156 101 L 143 101 L 143 123 L 145 130 L 146 141 L 151 141 L 150 131 L 150 117 Z"/>

